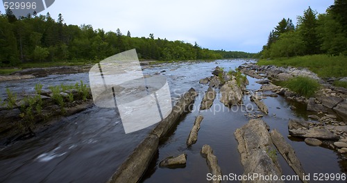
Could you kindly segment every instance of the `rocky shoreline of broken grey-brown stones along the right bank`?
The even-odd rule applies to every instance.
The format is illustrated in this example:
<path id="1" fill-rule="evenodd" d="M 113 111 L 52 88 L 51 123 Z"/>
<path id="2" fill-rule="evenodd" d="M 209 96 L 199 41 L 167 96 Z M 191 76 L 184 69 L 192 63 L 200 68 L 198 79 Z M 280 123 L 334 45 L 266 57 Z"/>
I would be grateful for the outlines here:
<path id="1" fill-rule="evenodd" d="M 341 154 L 347 153 L 347 148 L 344 147 L 347 146 L 347 89 L 335 87 L 329 80 L 325 81 L 307 69 L 258 66 L 254 63 L 244 64 L 239 69 L 248 76 L 260 79 L 258 83 L 262 84 L 262 87 L 257 92 L 271 91 L 289 101 L 306 105 L 306 110 L 313 113 L 307 116 L 310 121 L 289 121 L 290 137 L 304 140 L 309 138 L 313 141 L 319 139 L 332 150 L 337 150 Z M 273 84 L 296 76 L 306 76 L 319 81 L 321 89 L 313 97 L 307 98 Z M 260 96 L 262 97 L 264 96 Z M 291 109 L 295 110 L 295 107 L 292 106 Z"/>

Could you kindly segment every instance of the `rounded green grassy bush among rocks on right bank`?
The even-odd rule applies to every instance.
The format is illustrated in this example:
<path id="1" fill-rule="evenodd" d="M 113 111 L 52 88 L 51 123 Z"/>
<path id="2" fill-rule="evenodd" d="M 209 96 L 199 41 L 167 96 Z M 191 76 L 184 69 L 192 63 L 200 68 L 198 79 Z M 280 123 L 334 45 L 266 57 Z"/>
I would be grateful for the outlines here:
<path id="1" fill-rule="evenodd" d="M 316 80 L 303 76 L 292 78 L 285 83 L 291 91 L 307 97 L 313 96 L 320 87 Z"/>

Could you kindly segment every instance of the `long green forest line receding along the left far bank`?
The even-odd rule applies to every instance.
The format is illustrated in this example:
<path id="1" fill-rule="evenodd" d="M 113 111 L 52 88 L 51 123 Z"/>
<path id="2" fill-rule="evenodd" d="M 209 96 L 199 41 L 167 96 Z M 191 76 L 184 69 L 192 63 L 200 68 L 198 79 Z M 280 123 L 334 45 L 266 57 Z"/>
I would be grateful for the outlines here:
<path id="1" fill-rule="evenodd" d="M 131 37 L 119 28 L 105 32 L 91 25 L 67 25 L 61 14 L 57 21 L 46 15 L 15 17 L 10 10 L 0 13 L 0 67 L 22 62 L 58 62 L 71 60 L 103 60 L 111 55 L 136 49 L 143 60 L 216 60 L 251 58 L 252 53 L 212 51 L 196 42 Z"/>

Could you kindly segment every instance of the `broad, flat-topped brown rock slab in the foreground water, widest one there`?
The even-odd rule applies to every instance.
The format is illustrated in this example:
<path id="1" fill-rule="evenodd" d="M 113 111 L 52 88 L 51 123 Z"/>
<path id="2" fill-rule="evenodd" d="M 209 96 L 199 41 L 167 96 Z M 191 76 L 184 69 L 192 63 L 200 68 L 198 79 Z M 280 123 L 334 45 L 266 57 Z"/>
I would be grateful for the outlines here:
<path id="1" fill-rule="evenodd" d="M 244 166 L 244 174 L 253 173 L 262 175 L 273 175 L 280 177 L 282 170 L 278 163 L 277 156 L 271 155 L 273 146 L 269 126 L 260 119 L 252 119 L 242 128 L 236 130 L 235 137 L 239 143 L 237 149 L 241 155 L 241 162 Z M 249 182 L 249 181 L 242 181 Z M 255 179 L 252 182 L 264 182 L 264 180 Z M 270 181 L 269 181 L 270 182 Z M 280 180 L 271 182 L 283 182 Z"/>

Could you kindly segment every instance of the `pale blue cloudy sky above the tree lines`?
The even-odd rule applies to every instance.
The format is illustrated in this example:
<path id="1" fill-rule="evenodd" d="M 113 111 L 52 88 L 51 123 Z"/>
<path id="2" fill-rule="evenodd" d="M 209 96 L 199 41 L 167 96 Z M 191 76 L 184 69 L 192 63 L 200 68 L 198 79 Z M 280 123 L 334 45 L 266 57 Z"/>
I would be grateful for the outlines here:
<path id="1" fill-rule="evenodd" d="M 296 24 L 311 6 L 324 13 L 334 0 L 56 0 L 40 12 L 66 24 L 91 24 L 132 37 L 181 40 L 213 50 L 257 53 L 282 18 Z M 0 8 L 4 12 L 3 6 Z"/>

